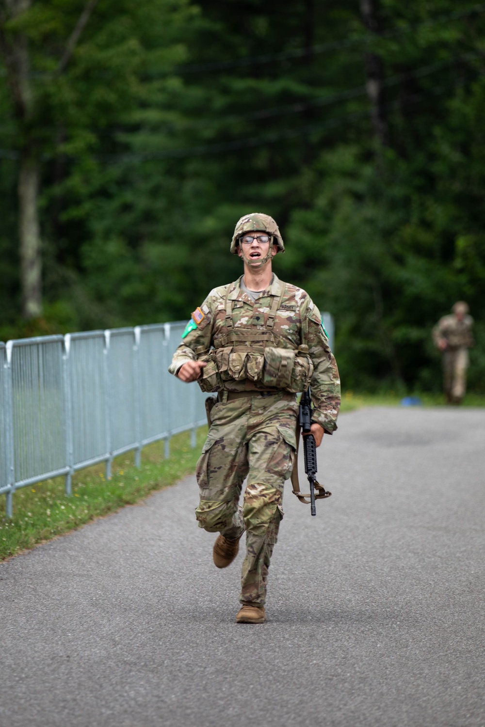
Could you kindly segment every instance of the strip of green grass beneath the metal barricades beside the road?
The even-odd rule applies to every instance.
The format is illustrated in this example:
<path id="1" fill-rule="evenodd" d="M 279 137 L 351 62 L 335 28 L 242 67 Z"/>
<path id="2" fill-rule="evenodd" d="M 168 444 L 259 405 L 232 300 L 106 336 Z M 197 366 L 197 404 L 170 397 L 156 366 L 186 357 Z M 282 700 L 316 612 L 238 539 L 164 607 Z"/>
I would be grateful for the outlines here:
<path id="1" fill-rule="evenodd" d="M 189 433 L 176 435 L 170 441 L 168 459 L 164 459 L 162 442 L 151 444 L 142 451 L 140 469 L 133 465 L 132 453 L 122 454 L 113 461 L 109 481 L 105 480 L 104 465 L 81 470 L 73 476 L 71 497 L 65 497 L 63 477 L 18 490 L 13 518 L 0 516 L 0 561 L 114 513 L 193 473 L 206 434 L 207 427 L 201 427 L 196 449 L 191 449 Z"/>

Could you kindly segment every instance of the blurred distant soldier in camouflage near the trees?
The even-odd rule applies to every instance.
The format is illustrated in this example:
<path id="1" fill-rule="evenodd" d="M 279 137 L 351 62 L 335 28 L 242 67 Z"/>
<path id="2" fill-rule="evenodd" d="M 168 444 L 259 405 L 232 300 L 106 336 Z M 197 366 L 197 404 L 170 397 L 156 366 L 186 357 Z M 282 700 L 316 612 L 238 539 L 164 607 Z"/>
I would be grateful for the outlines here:
<path id="1" fill-rule="evenodd" d="M 449 316 L 433 328 L 433 341 L 443 353 L 443 385 L 446 401 L 459 404 L 465 396 L 468 348 L 473 346 L 473 318 L 468 304 L 459 300 Z"/>

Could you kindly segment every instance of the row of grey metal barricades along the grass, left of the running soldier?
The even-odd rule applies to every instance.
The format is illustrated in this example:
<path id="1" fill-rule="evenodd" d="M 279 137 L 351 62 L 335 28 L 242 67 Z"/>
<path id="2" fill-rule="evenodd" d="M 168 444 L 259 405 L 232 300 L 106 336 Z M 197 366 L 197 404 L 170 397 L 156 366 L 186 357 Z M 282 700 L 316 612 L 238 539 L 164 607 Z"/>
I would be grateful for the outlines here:
<path id="1" fill-rule="evenodd" d="M 204 394 L 167 368 L 185 323 L 0 343 L 0 494 L 65 475 L 206 422 Z"/>

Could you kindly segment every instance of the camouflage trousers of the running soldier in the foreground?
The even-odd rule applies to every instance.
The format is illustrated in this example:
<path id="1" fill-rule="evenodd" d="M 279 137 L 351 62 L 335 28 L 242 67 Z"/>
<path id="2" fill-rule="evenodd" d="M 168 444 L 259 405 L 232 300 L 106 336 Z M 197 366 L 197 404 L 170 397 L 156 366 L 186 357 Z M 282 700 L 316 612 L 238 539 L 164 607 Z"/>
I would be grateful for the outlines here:
<path id="1" fill-rule="evenodd" d="M 297 411 L 295 395 L 283 392 L 246 396 L 212 409 L 212 426 L 197 463 L 196 518 L 199 527 L 227 538 L 246 530 L 241 603 L 265 603 L 268 567 L 283 517 L 284 481 L 293 468 Z"/>

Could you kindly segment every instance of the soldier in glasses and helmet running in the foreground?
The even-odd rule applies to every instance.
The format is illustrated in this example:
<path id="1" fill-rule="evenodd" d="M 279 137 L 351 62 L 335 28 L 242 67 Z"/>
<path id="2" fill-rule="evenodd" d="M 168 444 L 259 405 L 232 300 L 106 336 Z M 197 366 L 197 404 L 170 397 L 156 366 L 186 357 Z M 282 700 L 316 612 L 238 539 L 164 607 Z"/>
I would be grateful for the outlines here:
<path id="1" fill-rule="evenodd" d="M 241 217 L 231 252 L 244 261 L 244 276 L 212 290 L 192 313 L 169 371 L 217 392 L 197 463 L 196 518 L 199 527 L 219 533 L 213 550 L 217 568 L 236 558 L 246 531 L 236 621 L 262 623 L 284 481 L 295 460 L 297 392 L 311 383 L 311 433 L 319 446 L 324 432 L 337 428 L 340 381 L 316 305 L 272 272 L 273 256 L 284 252 L 273 218 Z"/>

